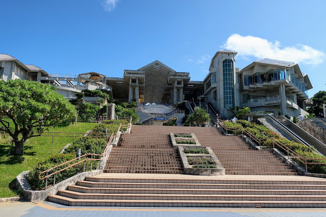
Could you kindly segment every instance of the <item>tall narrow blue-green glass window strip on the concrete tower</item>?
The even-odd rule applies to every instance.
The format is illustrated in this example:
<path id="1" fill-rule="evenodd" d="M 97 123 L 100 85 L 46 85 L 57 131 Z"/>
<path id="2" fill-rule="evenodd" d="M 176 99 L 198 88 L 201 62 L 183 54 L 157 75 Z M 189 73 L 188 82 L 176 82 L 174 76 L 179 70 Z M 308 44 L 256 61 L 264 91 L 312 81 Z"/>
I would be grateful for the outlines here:
<path id="1" fill-rule="evenodd" d="M 223 61 L 224 107 L 233 107 L 233 61 Z"/>

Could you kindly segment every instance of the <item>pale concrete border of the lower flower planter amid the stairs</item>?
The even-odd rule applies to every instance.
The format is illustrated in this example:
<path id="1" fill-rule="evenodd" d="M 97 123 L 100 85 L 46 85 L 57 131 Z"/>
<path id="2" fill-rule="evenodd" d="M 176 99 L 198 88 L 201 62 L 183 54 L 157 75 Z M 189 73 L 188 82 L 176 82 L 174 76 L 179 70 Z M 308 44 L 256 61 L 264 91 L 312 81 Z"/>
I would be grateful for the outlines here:
<path id="1" fill-rule="evenodd" d="M 221 176 L 225 175 L 225 168 L 222 166 L 220 160 L 214 154 L 210 147 L 206 147 L 209 154 L 186 154 L 184 153 L 184 146 L 178 146 L 179 153 L 182 159 L 183 170 L 188 175 L 200 175 L 200 176 Z M 213 158 L 218 168 L 193 168 L 188 163 L 187 156 L 207 156 Z"/>

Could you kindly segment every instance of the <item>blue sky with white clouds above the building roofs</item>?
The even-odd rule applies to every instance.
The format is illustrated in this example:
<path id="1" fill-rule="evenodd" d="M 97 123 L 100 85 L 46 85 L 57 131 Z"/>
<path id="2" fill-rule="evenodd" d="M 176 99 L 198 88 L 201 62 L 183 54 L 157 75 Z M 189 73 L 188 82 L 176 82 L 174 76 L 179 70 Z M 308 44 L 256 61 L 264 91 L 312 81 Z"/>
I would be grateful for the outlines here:
<path id="1" fill-rule="evenodd" d="M 122 77 L 155 60 L 202 80 L 219 49 L 236 67 L 292 61 L 326 90 L 326 1 L 2 1 L 0 53 L 48 73 Z"/>

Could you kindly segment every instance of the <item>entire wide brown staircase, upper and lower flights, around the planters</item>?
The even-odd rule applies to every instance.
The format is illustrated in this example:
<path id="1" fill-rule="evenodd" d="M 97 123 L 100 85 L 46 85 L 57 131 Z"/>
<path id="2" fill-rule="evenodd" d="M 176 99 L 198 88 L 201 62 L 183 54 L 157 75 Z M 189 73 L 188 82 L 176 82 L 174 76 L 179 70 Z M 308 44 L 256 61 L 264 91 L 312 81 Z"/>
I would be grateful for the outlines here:
<path id="1" fill-rule="evenodd" d="M 170 132 L 194 132 L 227 175 L 180 174 Z M 213 127 L 134 125 L 112 149 L 104 172 L 48 200 L 71 206 L 326 207 L 325 179 L 295 176 L 271 151 L 253 150 Z"/>

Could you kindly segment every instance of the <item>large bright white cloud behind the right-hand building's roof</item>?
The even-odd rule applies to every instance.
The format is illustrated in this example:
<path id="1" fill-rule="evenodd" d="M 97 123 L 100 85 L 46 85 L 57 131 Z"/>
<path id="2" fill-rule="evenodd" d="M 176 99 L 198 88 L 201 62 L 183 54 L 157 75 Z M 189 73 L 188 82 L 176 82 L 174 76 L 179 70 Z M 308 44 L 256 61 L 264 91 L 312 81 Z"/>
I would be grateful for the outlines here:
<path id="1" fill-rule="evenodd" d="M 317 65 L 324 61 L 325 53 L 308 45 L 281 46 L 279 41 L 270 42 L 254 36 L 231 35 L 224 44 L 226 49 L 235 50 L 241 57 L 254 56 L 275 60 Z"/>

